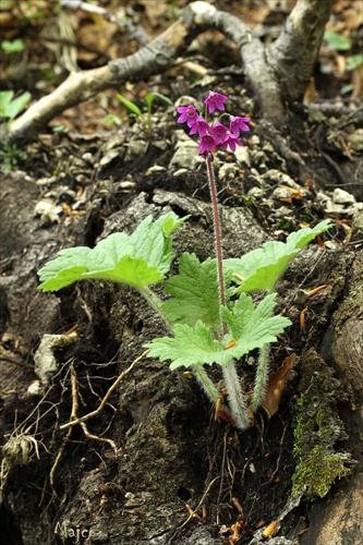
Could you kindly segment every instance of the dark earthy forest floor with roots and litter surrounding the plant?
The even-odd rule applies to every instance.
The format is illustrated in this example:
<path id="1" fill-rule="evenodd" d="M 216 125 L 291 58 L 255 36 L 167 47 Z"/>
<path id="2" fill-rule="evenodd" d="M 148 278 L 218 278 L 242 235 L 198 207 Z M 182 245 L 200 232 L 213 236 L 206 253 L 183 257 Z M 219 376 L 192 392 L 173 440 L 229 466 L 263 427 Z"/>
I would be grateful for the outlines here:
<path id="1" fill-rule="evenodd" d="M 37 100 L 64 80 L 72 63 L 86 70 L 136 50 L 143 36 L 162 32 L 185 3 L 102 2 L 110 12 L 119 10 L 128 23 L 120 26 L 40 0 L 19 2 L 22 10 L 3 11 L 4 35 L 21 39 L 24 49 L 3 56 L 1 88 L 29 90 Z M 216 5 L 268 40 L 287 14 L 280 3 Z M 111 232 L 131 232 L 149 214 L 170 209 L 191 215 L 176 234 L 178 254 L 213 255 L 204 165 L 194 160 L 193 146 L 180 145 L 185 132 L 176 123 L 174 107 L 156 96 L 146 126 L 109 89 L 64 111 L 24 148 L 3 148 L 0 445 L 16 450 L 2 456 L 4 543 L 247 544 L 254 535 L 258 543 L 258 529 L 277 519 L 286 543 L 303 540 L 311 502 L 299 497 L 294 507 L 291 497 L 294 431 L 298 401 L 306 391 L 315 395 L 314 374 L 322 379 L 325 410 L 337 415 L 331 446 L 349 453 L 349 471 L 354 467 L 356 422 L 347 416 L 354 395 L 331 364 L 330 329 L 362 254 L 362 66 L 347 69 L 362 25 L 354 7 L 337 2 L 328 28 L 349 37 L 350 49 L 324 41 L 315 86 L 281 126 L 293 156 L 258 132 L 263 120 L 243 87 L 237 50 L 218 33 L 197 40 L 192 68 L 177 62 L 153 81 L 119 90 L 144 112 L 150 92 L 172 102 L 184 95 L 203 102 L 209 90 L 218 90 L 229 96 L 232 114 L 252 118 L 244 146 L 216 158 L 226 257 L 332 220 L 334 228 L 302 252 L 279 283 L 278 310 L 293 325 L 273 348 L 271 371 L 291 353 L 297 363 L 278 412 L 273 417 L 258 412 L 244 434 L 215 421 L 197 384 L 182 372 L 145 359 L 129 371 L 143 344 L 162 332 L 153 310 L 132 290 L 105 282 L 82 282 L 57 294 L 37 290 L 38 269 L 59 250 L 93 247 Z M 39 347 L 50 354 L 47 334 L 59 335 L 60 344 L 57 368 L 39 397 L 29 387 L 39 385 L 34 366 L 44 358 Z M 239 363 L 246 389 L 252 360 Z M 97 410 L 122 373 L 94 419 L 60 429 Z M 218 370 L 214 373 L 217 383 Z M 306 396 L 305 402 L 313 401 Z M 344 483 L 337 480 L 332 494 Z"/>

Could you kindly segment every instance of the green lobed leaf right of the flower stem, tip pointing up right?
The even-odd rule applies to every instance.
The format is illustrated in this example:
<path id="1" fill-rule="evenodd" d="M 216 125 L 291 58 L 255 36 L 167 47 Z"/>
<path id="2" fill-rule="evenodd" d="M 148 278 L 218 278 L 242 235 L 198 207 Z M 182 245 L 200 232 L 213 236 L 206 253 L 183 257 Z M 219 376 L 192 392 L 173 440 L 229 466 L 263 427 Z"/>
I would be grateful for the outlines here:
<path id="1" fill-rule="evenodd" d="M 243 278 L 241 281 L 235 280 L 240 284 L 235 293 L 258 290 L 273 292 L 276 282 L 282 276 L 293 257 L 317 234 L 326 231 L 330 226 L 331 223 L 328 219 L 322 221 L 313 229 L 305 228 L 290 233 L 286 242 L 265 242 L 262 247 L 249 252 L 239 259 L 225 259 L 225 270 Z"/>

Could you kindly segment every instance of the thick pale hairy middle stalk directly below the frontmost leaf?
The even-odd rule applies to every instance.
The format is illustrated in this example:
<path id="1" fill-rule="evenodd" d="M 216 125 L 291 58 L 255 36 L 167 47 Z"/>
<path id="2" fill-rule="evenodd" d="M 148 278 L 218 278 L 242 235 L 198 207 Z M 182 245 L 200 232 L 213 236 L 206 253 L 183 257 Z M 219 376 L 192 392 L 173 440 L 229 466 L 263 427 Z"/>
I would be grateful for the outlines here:
<path id="1" fill-rule="evenodd" d="M 242 386 L 235 371 L 234 361 L 230 360 L 226 365 L 222 365 L 222 372 L 228 391 L 228 404 L 231 409 L 234 424 L 239 429 L 246 429 L 251 426 L 251 419 Z"/>

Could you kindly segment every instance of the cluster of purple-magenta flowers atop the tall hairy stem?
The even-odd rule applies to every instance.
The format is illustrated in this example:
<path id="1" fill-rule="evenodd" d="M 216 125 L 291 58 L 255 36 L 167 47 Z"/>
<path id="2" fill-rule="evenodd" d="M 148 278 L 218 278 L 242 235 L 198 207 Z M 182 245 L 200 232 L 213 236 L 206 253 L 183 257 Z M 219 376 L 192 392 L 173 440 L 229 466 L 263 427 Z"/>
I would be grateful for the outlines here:
<path id="1" fill-rule="evenodd" d="M 210 90 L 204 104 L 207 105 L 208 112 L 213 113 L 215 110 L 225 111 L 226 100 L 228 100 L 226 95 Z M 191 130 L 190 134 L 199 136 L 199 155 L 210 161 L 213 161 L 213 154 L 218 147 L 222 150 L 229 147 L 234 152 L 235 146 L 242 146 L 242 142 L 239 140 L 240 131 L 250 131 L 247 125 L 250 118 L 231 118 L 227 128 L 219 121 L 209 124 L 192 105 L 179 106 L 177 111 L 181 114 L 178 118 L 178 123 L 186 123 Z"/>

